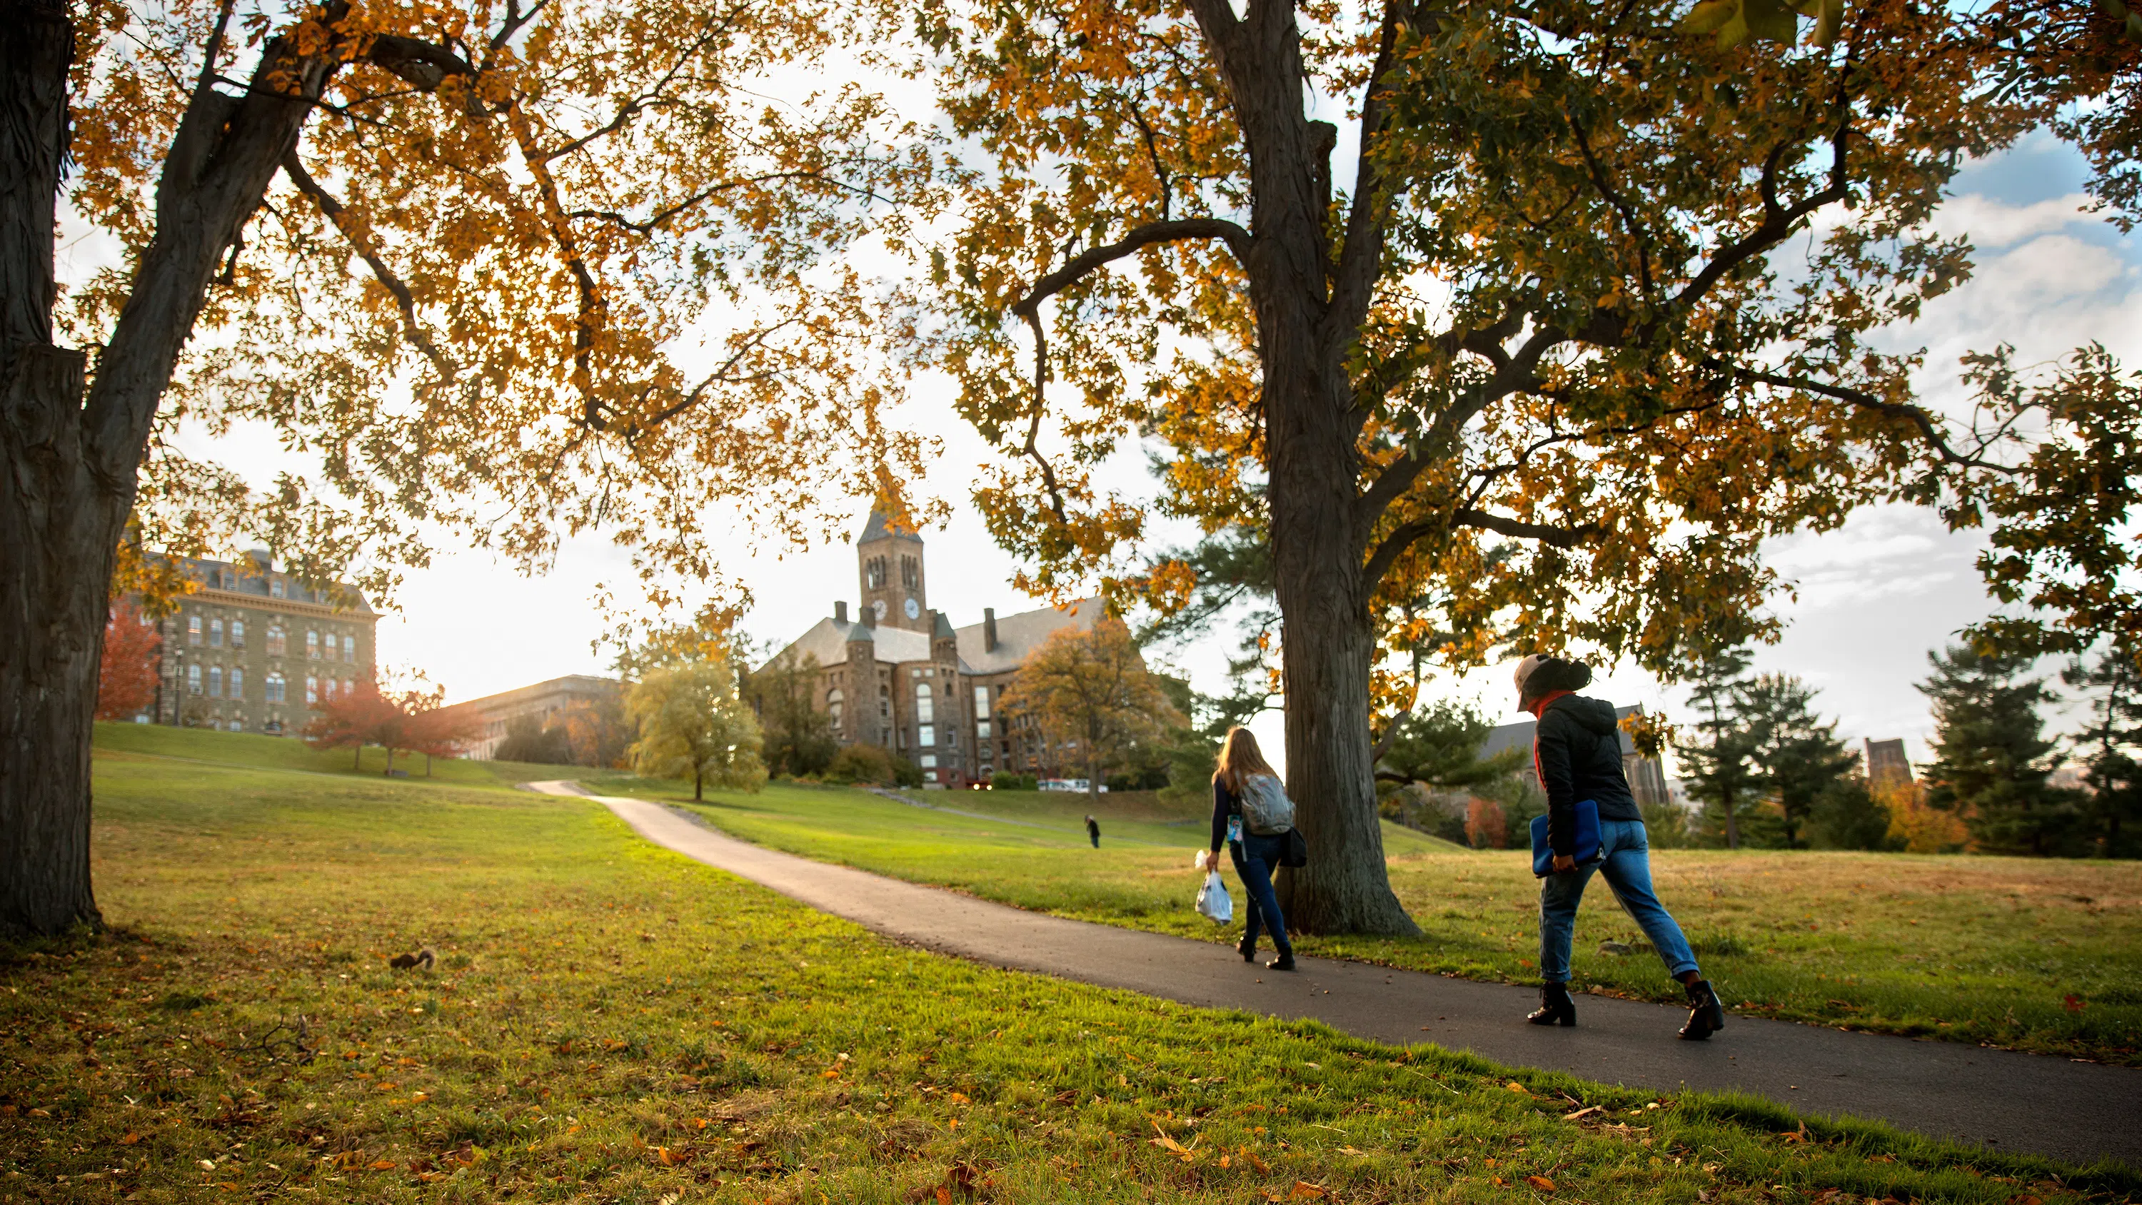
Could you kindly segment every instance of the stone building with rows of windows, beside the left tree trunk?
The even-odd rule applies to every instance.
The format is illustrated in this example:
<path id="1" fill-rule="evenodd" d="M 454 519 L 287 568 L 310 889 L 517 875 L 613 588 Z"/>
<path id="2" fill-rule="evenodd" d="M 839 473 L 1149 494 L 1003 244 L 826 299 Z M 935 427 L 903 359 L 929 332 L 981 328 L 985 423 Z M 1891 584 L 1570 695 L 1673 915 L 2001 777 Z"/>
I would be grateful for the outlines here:
<path id="1" fill-rule="evenodd" d="M 379 614 L 353 586 L 311 589 L 261 550 L 176 563 L 199 589 L 161 621 L 156 723 L 293 736 L 371 676 Z"/>

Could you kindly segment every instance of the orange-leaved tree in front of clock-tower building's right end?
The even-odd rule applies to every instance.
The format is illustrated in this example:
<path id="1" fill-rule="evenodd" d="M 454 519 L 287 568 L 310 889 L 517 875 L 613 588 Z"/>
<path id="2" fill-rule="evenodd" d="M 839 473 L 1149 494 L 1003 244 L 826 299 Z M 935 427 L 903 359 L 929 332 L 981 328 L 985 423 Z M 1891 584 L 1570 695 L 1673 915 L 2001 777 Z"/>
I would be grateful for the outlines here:
<path id="1" fill-rule="evenodd" d="M 1088 805 L 1099 803 L 1107 766 L 1187 723 L 1120 619 L 1101 619 L 1092 631 L 1058 629 L 1013 674 L 998 708 L 1032 717 L 1052 749 L 1077 747 Z"/>

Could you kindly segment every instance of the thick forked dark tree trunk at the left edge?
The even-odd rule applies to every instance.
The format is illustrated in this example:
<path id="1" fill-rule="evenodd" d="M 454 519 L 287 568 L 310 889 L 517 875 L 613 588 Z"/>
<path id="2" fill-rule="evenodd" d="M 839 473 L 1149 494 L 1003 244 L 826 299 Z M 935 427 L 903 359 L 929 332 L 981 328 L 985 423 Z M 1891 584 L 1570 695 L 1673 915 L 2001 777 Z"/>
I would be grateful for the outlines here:
<path id="1" fill-rule="evenodd" d="M 334 51 L 261 54 L 206 83 L 156 188 L 156 233 L 86 387 L 54 347 L 54 218 L 73 28 L 60 0 L 0 0 L 0 931 L 96 925 L 90 734 L 111 565 L 156 405 L 225 250 L 298 143 Z M 268 83 L 276 73 L 291 92 Z"/>

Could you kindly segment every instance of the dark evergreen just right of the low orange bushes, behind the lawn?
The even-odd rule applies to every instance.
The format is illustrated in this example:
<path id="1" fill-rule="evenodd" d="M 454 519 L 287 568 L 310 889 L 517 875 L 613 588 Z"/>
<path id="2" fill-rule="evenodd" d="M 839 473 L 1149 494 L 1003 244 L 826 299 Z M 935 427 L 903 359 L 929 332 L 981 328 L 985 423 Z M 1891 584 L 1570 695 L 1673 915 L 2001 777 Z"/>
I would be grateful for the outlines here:
<path id="1" fill-rule="evenodd" d="M 1934 764 L 1926 803 L 1962 815 L 1973 848 L 1996 854 L 2061 852 L 2073 809 L 2048 785 L 2054 743 L 2037 704 L 2041 678 L 2026 678 L 2028 655 L 1949 646 L 1928 653 L 1934 676 L 1919 683 L 1934 706 Z"/>

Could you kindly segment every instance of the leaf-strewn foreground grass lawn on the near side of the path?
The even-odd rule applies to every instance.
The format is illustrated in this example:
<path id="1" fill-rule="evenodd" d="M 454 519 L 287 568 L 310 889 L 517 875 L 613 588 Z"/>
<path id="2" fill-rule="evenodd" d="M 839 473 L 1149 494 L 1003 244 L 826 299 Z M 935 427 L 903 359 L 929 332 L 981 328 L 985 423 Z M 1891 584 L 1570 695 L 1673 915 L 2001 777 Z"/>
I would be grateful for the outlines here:
<path id="1" fill-rule="evenodd" d="M 499 785 L 96 760 L 9 1201 L 2101 1201 L 2065 1169 L 885 942 Z M 428 944 L 431 972 L 388 959 Z"/>

